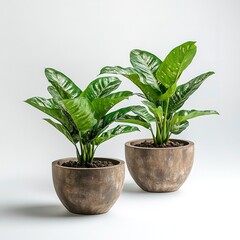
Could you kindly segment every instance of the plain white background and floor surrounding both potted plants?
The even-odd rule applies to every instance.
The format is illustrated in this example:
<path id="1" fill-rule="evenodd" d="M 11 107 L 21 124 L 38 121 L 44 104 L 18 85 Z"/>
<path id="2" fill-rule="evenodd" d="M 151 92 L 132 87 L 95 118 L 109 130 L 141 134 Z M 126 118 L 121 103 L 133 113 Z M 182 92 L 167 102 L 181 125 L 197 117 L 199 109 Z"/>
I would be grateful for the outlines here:
<path id="1" fill-rule="evenodd" d="M 0 239 L 240 239 L 239 11 L 238 0 L 0 0 Z M 186 183 L 175 193 L 145 193 L 126 171 L 109 213 L 68 213 L 50 163 L 74 156 L 74 148 L 23 103 L 48 97 L 44 68 L 85 88 L 103 66 L 129 66 L 131 49 L 163 59 L 188 40 L 197 41 L 198 53 L 181 81 L 216 74 L 184 107 L 221 115 L 194 119 L 179 136 L 196 146 Z M 136 90 L 122 80 L 121 90 Z M 119 136 L 97 156 L 124 159 L 124 142 L 149 136 Z"/>

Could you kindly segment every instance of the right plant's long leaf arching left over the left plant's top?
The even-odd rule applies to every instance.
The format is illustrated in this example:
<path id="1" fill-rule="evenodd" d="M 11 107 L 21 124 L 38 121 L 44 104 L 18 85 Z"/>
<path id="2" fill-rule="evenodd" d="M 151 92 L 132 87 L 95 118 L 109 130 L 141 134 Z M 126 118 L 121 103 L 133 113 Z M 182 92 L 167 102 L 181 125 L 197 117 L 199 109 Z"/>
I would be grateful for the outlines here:
<path id="1" fill-rule="evenodd" d="M 120 74 L 132 81 L 142 91 L 142 93 L 149 101 L 156 103 L 159 100 L 160 92 L 152 88 L 150 85 L 147 85 L 147 83 L 144 83 L 143 77 L 133 68 L 107 66 L 104 67 L 100 73 Z"/>

